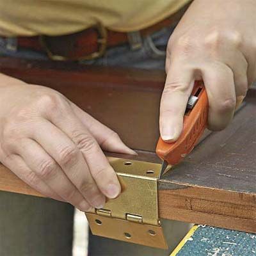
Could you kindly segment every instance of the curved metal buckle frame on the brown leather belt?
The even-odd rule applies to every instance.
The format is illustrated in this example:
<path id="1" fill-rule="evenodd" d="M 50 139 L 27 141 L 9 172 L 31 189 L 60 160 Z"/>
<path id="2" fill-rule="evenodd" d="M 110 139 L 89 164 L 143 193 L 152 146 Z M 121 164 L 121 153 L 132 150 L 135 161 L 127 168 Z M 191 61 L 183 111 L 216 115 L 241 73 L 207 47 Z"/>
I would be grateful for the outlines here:
<path id="1" fill-rule="evenodd" d="M 95 24 L 90 28 L 95 28 L 97 30 L 97 33 L 98 33 L 97 43 L 99 45 L 99 49 L 97 52 L 92 52 L 91 54 L 88 54 L 86 56 L 79 56 L 77 58 L 68 58 L 67 56 L 54 54 L 54 52 L 51 51 L 49 45 L 47 44 L 47 40 L 45 40 L 46 36 L 44 35 L 41 35 L 39 37 L 40 44 L 44 48 L 50 60 L 54 60 L 54 61 L 94 60 L 96 58 L 100 58 L 106 52 L 108 31 L 100 22 L 98 22 L 97 24 Z"/>

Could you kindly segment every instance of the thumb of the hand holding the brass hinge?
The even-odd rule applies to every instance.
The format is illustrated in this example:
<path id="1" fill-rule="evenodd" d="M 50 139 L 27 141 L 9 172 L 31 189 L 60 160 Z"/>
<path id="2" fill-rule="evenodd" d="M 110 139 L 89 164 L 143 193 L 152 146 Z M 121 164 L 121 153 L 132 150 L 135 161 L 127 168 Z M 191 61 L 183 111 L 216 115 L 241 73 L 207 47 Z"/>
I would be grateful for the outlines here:
<path id="1" fill-rule="evenodd" d="M 137 154 L 124 144 L 116 132 L 106 127 L 106 125 L 101 124 L 98 120 L 88 115 L 88 113 L 78 108 L 74 103 L 70 102 L 70 104 L 76 116 L 87 127 L 103 150 L 122 154 Z"/>

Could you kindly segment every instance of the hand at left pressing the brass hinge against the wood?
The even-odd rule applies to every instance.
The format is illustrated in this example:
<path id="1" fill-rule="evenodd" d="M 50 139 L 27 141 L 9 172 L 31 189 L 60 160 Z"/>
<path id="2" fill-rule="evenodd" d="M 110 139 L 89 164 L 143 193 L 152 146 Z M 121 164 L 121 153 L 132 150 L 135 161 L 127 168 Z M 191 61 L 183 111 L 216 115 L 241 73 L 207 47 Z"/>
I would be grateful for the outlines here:
<path id="1" fill-rule="evenodd" d="M 0 161 L 29 186 L 81 211 L 103 207 L 120 184 L 101 148 L 136 154 L 61 93 L 0 74 Z"/>

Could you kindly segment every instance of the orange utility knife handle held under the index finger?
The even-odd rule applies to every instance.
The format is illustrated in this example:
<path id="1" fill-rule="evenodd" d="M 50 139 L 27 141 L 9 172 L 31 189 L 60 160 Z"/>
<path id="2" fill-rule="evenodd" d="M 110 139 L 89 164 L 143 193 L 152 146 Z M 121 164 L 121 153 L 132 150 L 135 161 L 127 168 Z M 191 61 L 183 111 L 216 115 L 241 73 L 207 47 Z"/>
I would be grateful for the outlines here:
<path id="1" fill-rule="evenodd" d="M 157 143 L 157 155 L 171 165 L 179 163 L 193 150 L 207 125 L 208 99 L 202 81 L 195 81 L 191 95 L 198 97 L 198 100 L 193 109 L 184 115 L 183 130 L 179 139 L 167 143 L 160 137 Z"/>

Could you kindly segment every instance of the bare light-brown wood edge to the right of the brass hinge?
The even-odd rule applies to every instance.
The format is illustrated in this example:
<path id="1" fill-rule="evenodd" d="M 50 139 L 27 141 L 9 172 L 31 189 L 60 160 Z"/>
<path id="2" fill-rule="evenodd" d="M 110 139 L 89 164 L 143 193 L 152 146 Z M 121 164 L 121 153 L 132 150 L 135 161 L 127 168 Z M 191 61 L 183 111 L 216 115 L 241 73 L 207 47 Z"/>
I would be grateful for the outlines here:
<path id="1" fill-rule="evenodd" d="M 159 189 L 161 218 L 256 233 L 254 193 L 168 183 L 173 189 Z"/>

